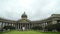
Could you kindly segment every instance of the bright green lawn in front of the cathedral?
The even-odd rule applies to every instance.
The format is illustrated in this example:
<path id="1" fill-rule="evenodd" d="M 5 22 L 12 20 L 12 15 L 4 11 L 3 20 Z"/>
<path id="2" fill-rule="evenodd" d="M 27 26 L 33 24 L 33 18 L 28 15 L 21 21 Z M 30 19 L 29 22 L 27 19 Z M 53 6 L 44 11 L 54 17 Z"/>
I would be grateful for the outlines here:
<path id="1" fill-rule="evenodd" d="M 9 31 L 9 32 L 0 32 L 0 34 L 60 34 L 60 32 L 40 32 L 40 31 Z"/>

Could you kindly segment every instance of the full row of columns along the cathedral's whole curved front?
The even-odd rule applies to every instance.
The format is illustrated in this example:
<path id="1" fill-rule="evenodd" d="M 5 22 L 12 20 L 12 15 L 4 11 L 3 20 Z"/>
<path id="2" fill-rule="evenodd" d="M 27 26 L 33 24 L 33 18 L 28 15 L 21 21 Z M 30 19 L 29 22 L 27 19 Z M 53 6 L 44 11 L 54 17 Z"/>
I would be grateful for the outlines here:
<path id="1" fill-rule="evenodd" d="M 55 24 L 57 21 L 46 21 L 44 23 L 11 23 L 11 22 L 0 22 L 1 27 L 4 26 L 14 26 L 16 29 L 22 29 L 25 27 L 26 29 L 31 29 L 34 26 L 42 26 L 43 28 L 49 24 Z"/>

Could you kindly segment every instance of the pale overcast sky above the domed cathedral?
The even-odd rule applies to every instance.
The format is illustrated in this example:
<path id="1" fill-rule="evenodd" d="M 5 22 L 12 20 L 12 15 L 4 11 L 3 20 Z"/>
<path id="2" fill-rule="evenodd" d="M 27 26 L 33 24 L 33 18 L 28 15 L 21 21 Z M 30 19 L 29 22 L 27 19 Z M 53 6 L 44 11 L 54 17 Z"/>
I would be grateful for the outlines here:
<path id="1" fill-rule="evenodd" d="M 26 13 L 30 20 L 42 20 L 60 14 L 60 0 L 0 0 L 0 17 L 19 20 Z"/>

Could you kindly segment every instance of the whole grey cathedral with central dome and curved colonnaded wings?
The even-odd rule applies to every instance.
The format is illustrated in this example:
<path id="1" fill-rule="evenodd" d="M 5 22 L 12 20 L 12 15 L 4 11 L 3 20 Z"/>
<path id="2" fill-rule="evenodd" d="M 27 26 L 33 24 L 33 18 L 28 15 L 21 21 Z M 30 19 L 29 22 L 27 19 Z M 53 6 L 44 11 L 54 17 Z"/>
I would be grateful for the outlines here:
<path id="1" fill-rule="evenodd" d="M 25 12 L 22 14 L 21 19 L 17 21 L 0 18 L 0 29 L 5 26 L 13 26 L 15 27 L 15 29 L 20 29 L 20 30 L 23 27 L 25 27 L 25 29 L 28 30 L 35 26 L 41 26 L 44 29 L 45 26 L 60 23 L 60 14 L 52 14 L 47 19 L 37 20 L 37 21 L 31 21 L 27 18 L 28 16 L 25 14 Z"/>

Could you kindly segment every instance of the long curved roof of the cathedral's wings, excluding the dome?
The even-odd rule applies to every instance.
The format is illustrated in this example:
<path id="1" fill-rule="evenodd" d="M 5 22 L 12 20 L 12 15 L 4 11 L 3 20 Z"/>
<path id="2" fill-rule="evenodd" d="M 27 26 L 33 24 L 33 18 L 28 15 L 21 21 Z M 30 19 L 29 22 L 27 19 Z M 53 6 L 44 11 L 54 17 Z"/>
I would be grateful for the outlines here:
<path id="1" fill-rule="evenodd" d="M 52 14 L 47 19 L 43 19 L 43 20 L 30 21 L 29 19 L 26 19 L 25 21 L 26 22 L 31 22 L 31 23 L 42 23 L 42 22 L 51 21 L 53 18 L 60 18 L 60 14 Z M 0 21 L 2 21 L 2 22 L 11 22 L 11 23 L 13 22 L 13 23 L 16 23 L 16 22 L 23 22 L 24 20 L 23 19 L 19 19 L 17 21 L 14 21 L 14 20 L 8 20 L 8 19 L 0 18 Z"/>

